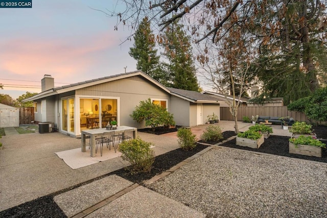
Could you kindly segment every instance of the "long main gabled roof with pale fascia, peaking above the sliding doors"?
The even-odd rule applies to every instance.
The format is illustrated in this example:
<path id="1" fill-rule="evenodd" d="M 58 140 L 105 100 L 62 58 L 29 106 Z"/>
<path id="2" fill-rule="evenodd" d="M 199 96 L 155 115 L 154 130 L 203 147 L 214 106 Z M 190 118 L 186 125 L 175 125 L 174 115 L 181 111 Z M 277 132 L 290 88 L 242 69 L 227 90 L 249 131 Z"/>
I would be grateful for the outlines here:
<path id="1" fill-rule="evenodd" d="M 88 86 L 98 85 L 101 83 L 106 83 L 106 82 L 110 82 L 110 81 L 114 81 L 114 80 L 120 80 L 120 79 L 124 79 L 124 78 L 134 77 L 134 76 L 142 76 L 145 79 L 147 79 L 148 81 L 150 81 L 153 84 L 155 84 L 156 86 L 158 86 L 159 88 L 169 92 L 169 90 L 166 88 L 166 86 L 162 85 L 158 81 L 149 77 L 144 72 L 136 70 L 136 71 L 132 71 L 132 72 L 125 72 L 124 74 L 102 77 L 102 78 L 98 78 L 98 79 L 87 80 L 84 82 L 73 83 L 73 84 L 69 84 L 69 85 L 65 85 L 65 86 L 55 87 L 55 88 L 43 91 L 41 93 L 38 93 L 29 99 L 25 99 L 23 102 L 34 101 L 34 100 L 42 99 L 42 98 L 45 98 L 45 97 L 48 97 L 51 95 L 56 95 L 56 94 L 60 94 L 60 93 L 68 92 L 68 91 L 85 88 Z"/>

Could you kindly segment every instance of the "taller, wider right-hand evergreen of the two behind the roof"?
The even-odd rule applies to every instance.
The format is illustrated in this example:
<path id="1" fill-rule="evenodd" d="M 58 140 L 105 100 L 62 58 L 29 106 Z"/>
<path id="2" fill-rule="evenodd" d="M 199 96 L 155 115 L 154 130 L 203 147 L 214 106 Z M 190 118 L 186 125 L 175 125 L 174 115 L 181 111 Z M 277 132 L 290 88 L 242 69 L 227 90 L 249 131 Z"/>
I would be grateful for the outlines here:
<path id="1" fill-rule="evenodd" d="M 159 37 L 159 44 L 165 47 L 165 52 L 162 54 L 169 60 L 167 67 L 172 80 L 170 86 L 199 91 L 190 38 L 185 35 L 182 28 L 174 22 Z"/>

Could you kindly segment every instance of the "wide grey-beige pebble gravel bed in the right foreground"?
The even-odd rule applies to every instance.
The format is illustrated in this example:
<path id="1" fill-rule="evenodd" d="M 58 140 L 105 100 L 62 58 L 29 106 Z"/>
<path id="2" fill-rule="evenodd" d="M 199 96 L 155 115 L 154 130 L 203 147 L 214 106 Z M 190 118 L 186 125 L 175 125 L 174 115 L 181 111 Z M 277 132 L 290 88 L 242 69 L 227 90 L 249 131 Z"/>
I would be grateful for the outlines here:
<path id="1" fill-rule="evenodd" d="M 212 149 L 148 188 L 208 217 L 327 217 L 327 165 Z"/>

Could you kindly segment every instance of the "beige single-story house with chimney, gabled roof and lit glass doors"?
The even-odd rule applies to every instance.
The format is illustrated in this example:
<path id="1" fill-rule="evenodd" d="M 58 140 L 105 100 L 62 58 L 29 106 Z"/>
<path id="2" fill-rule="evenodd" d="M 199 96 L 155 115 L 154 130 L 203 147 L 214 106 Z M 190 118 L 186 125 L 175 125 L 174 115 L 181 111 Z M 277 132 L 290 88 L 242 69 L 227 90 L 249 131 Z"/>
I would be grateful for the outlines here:
<path id="1" fill-rule="evenodd" d="M 54 87 L 54 78 L 44 75 L 41 93 L 33 101 L 35 122 L 52 122 L 57 131 L 72 136 L 81 130 L 118 125 L 144 128 L 130 117 L 140 101 L 151 99 L 174 114 L 176 125 L 204 124 L 207 114 L 219 115 L 217 99 L 194 91 L 167 88 L 142 71 L 126 72 L 85 82 Z"/>

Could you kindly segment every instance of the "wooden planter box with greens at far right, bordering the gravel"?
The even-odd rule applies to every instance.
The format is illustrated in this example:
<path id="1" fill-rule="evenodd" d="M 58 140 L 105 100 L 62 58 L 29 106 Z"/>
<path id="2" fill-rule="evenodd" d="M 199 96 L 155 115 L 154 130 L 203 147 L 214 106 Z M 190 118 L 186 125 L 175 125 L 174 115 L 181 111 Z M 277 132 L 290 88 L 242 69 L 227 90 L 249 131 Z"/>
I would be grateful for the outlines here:
<path id="1" fill-rule="evenodd" d="M 321 157 L 323 148 L 325 149 L 326 145 L 311 136 L 300 135 L 298 138 L 289 139 L 290 154 Z"/>

